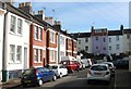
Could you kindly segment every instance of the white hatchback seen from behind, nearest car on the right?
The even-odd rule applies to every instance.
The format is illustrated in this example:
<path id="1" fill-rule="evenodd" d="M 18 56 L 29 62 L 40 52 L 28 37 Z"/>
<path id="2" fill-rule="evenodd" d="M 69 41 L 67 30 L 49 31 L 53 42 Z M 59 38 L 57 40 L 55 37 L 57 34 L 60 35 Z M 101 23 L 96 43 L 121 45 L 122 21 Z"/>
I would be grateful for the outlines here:
<path id="1" fill-rule="evenodd" d="M 91 80 L 105 80 L 110 82 L 111 73 L 107 64 L 93 64 L 87 71 L 87 82 Z"/>

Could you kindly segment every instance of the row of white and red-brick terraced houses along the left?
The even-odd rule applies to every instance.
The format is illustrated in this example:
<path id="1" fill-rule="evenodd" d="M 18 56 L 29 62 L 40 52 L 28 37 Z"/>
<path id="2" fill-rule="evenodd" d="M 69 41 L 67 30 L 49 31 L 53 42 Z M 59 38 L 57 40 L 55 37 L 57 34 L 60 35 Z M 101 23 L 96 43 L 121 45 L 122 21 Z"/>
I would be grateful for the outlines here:
<path id="1" fill-rule="evenodd" d="M 31 2 L 19 8 L 0 2 L 0 80 L 17 78 L 23 69 L 76 58 L 76 39 L 61 30 L 61 22 L 35 14 Z"/>

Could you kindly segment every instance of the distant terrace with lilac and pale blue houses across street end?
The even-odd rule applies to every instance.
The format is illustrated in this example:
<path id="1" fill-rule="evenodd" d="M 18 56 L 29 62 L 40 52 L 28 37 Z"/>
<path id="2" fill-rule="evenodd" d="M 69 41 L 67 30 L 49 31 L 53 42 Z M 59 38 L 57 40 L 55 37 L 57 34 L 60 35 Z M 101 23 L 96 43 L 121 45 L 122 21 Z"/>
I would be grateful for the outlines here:
<path id="1" fill-rule="evenodd" d="M 93 54 L 130 54 L 131 53 L 131 28 L 120 25 L 119 29 L 94 28 L 91 33 L 72 33 L 78 38 L 78 52 L 85 51 Z"/>

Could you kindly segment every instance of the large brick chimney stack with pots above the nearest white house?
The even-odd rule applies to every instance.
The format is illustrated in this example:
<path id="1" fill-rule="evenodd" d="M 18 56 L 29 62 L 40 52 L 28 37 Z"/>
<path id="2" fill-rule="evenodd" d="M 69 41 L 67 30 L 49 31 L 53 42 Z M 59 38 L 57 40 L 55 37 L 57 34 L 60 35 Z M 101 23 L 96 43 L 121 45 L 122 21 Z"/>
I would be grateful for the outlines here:
<path id="1" fill-rule="evenodd" d="M 33 12 L 33 8 L 32 8 L 32 3 L 31 2 L 19 3 L 19 9 L 23 10 L 26 13 L 31 13 L 31 14 Z"/>

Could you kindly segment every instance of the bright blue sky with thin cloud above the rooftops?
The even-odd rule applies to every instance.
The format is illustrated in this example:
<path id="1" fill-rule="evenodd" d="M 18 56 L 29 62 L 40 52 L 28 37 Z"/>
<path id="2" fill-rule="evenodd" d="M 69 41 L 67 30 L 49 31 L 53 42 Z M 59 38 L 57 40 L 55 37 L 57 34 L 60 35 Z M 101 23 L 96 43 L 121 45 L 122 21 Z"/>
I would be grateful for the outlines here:
<path id="1" fill-rule="evenodd" d="M 32 1 L 36 14 L 38 10 L 44 10 L 46 16 L 60 20 L 62 29 L 67 29 L 68 33 L 90 33 L 91 26 L 108 30 L 119 29 L 120 25 L 129 28 L 128 0 Z"/>

